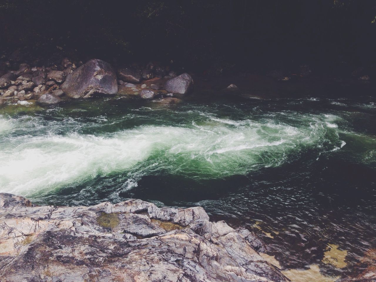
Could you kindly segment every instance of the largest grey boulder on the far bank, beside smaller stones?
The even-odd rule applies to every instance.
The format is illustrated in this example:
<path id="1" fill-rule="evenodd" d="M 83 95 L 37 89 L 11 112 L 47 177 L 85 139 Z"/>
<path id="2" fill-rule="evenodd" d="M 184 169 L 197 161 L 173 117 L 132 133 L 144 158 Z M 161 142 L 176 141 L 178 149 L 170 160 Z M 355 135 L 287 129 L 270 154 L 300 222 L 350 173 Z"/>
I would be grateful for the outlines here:
<path id="1" fill-rule="evenodd" d="M 115 71 L 105 61 L 92 59 L 67 76 L 60 86 L 71 98 L 112 95 L 118 91 Z"/>

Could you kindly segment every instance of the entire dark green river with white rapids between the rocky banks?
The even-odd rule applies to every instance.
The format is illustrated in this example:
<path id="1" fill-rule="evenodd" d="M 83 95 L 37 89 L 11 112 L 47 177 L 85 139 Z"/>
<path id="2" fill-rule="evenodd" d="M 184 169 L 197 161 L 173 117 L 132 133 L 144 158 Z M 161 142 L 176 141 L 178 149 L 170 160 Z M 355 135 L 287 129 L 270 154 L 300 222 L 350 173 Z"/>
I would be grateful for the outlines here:
<path id="1" fill-rule="evenodd" d="M 360 271 L 376 246 L 370 97 L 14 108 L 0 115 L 0 192 L 56 205 L 201 205 L 256 232 L 283 269 L 331 276 Z M 334 245 L 346 250 L 342 265 L 325 262 Z"/>

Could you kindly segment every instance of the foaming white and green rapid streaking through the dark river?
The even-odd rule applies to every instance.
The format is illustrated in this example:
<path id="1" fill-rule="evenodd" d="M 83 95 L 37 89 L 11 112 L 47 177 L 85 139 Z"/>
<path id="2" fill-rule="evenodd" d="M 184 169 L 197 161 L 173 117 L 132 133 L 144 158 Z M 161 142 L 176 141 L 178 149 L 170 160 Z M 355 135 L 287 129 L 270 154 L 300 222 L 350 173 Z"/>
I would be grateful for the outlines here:
<path id="1" fill-rule="evenodd" d="M 291 162 L 304 150 L 344 146 L 335 124 L 338 117 L 294 118 L 297 122 L 288 124 L 270 117 L 233 120 L 196 112 L 184 124 L 84 134 L 99 125 L 71 117 L 2 115 L 0 192 L 28 196 L 108 175 L 124 177 L 127 188 L 144 175 L 221 178 Z M 101 128 L 114 122 L 101 119 Z"/>

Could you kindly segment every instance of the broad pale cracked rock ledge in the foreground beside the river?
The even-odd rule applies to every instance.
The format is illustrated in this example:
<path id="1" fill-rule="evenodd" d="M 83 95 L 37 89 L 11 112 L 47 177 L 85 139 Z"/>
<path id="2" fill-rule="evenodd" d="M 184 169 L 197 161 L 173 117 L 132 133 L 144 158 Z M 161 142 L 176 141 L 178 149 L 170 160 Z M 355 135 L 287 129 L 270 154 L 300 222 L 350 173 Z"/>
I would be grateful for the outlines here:
<path id="1" fill-rule="evenodd" d="M 0 193 L 0 281 L 289 281 L 201 207 L 36 206 Z"/>

